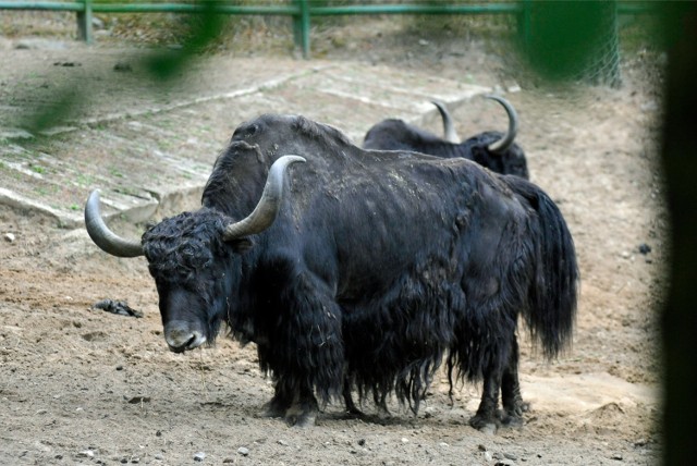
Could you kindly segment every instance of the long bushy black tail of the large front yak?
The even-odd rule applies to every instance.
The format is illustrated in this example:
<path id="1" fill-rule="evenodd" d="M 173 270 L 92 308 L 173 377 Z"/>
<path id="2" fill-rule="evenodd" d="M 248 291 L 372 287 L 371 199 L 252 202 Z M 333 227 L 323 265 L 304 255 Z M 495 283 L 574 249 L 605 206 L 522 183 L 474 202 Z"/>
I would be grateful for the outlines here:
<path id="1" fill-rule="evenodd" d="M 579 274 L 574 241 L 547 194 L 518 176 L 506 176 L 506 182 L 537 212 L 537 221 L 530 222 L 534 279 L 522 314 L 533 340 L 552 359 L 571 343 L 576 320 Z"/>

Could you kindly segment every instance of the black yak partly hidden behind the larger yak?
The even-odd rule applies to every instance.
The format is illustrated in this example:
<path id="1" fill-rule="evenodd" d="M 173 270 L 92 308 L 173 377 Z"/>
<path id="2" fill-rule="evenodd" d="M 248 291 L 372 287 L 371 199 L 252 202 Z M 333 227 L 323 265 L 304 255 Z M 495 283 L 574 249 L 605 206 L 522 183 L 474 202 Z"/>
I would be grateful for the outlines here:
<path id="1" fill-rule="evenodd" d="M 443 119 L 444 139 L 402 120 L 389 119 L 368 130 L 363 147 L 377 150 L 413 150 L 443 158 L 462 157 L 497 173 L 514 174 L 527 180 L 527 160 L 521 146 L 515 144 L 518 127 L 515 109 L 503 97 L 487 97 L 501 103 L 509 114 L 509 130 L 505 134 L 487 131 L 461 143 L 448 108 L 433 101 Z"/>

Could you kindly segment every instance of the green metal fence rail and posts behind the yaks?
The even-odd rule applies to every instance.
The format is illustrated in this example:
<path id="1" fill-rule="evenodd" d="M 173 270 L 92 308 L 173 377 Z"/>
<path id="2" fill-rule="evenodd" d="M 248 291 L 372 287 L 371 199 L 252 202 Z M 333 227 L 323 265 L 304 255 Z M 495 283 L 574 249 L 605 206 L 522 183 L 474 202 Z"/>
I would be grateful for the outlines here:
<path id="1" fill-rule="evenodd" d="M 323 3 L 323 2 L 322 2 Z M 93 41 L 91 21 L 94 13 L 217 13 L 235 15 L 281 15 L 291 16 L 294 25 L 295 42 L 301 47 L 303 57 L 310 56 L 310 19 L 313 16 L 337 15 L 377 15 L 377 14 L 513 14 L 519 19 L 521 37 L 529 36 L 529 10 L 531 0 L 517 2 L 488 2 L 488 3 L 449 3 L 430 2 L 424 4 L 350 4 L 326 5 L 313 0 L 288 0 L 280 4 L 235 5 L 231 2 L 216 0 L 191 0 L 182 3 L 156 3 L 156 2 L 101 2 L 95 0 L 80 1 L 25 1 L 0 0 L 0 10 L 44 10 L 44 11 L 74 11 L 77 16 L 78 37 L 88 44 Z M 620 1 L 617 14 L 643 13 L 648 11 L 646 2 Z"/>

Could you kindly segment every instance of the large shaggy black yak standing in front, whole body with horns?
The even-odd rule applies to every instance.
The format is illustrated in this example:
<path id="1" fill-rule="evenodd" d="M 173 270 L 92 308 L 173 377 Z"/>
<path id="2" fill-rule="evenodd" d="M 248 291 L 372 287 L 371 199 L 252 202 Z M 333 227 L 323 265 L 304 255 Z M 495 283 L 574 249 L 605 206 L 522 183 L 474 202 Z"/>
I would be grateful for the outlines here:
<path id="1" fill-rule="evenodd" d="M 295 155 L 306 162 L 286 170 Z M 578 272 L 559 209 L 465 159 L 363 150 L 332 126 L 264 115 L 235 130 L 199 210 L 138 242 L 98 206 L 94 192 L 88 232 L 145 255 L 170 350 L 227 323 L 274 382 L 265 414 L 291 424 L 315 422 L 318 398 L 352 407 L 351 390 L 416 412 L 443 363 L 451 385 L 484 382 L 472 426 L 519 424 L 518 316 L 550 358 L 572 336 Z"/>

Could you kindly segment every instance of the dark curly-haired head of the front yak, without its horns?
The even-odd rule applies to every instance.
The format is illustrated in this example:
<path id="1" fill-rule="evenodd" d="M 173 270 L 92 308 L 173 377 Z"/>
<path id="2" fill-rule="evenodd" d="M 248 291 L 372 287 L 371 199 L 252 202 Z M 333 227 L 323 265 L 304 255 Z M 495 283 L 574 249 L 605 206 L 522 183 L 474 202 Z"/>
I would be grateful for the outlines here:
<path id="1" fill-rule="evenodd" d="M 212 343 L 237 286 L 240 258 L 250 243 L 227 242 L 231 219 L 203 208 L 164 219 L 143 235 L 148 269 L 159 295 L 164 339 L 182 352 Z"/>

